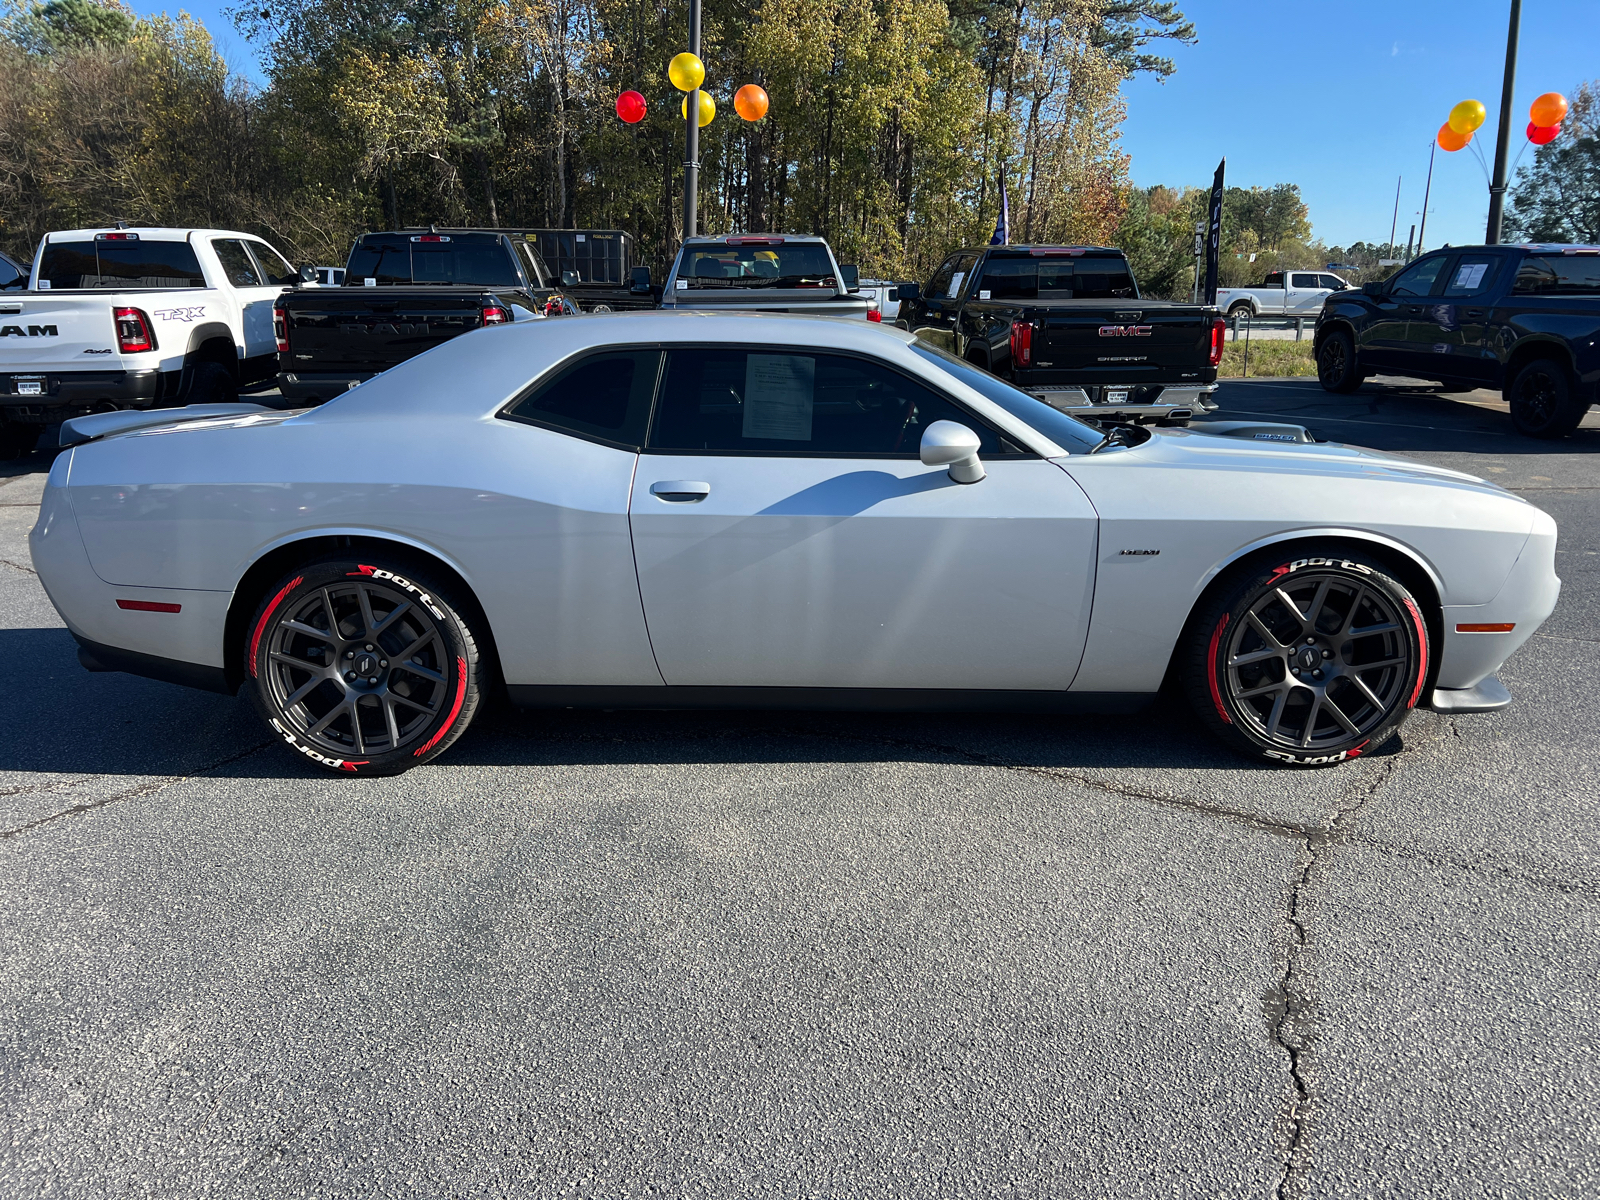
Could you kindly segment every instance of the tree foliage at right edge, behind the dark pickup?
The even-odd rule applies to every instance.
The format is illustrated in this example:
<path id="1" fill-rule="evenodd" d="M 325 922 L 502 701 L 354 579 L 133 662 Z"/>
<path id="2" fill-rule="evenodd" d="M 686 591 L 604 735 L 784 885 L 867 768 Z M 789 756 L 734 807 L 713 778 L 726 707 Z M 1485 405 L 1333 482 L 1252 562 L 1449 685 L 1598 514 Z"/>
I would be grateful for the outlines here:
<path id="1" fill-rule="evenodd" d="M 1506 237 L 1517 242 L 1600 242 L 1600 82 L 1579 83 L 1562 136 L 1517 173 Z"/>

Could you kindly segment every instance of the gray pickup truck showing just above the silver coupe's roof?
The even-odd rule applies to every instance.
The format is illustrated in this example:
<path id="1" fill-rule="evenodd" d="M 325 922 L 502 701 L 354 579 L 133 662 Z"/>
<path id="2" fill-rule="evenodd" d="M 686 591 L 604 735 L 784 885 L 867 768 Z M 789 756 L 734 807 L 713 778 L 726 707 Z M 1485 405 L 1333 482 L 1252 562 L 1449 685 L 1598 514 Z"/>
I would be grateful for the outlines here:
<path id="1" fill-rule="evenodd" d="M 838 266 L 819 237 L 691 237 L 672 262 L 661 307 L 866 318 L 870 306 L 856 288 L 856 267 Z"/>

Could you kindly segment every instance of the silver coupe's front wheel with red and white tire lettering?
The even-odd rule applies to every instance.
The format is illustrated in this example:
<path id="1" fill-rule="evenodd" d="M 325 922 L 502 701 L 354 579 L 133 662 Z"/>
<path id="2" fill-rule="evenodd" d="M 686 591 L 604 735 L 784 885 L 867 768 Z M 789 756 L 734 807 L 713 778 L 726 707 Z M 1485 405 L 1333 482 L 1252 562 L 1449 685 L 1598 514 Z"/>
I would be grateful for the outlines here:
<path id="1" fill-rule="evenodd" d="M 1376 558 L 1296 549 L 1240 571 L 1181 650 L 1213 733 L 1254 758 L 1328 766 L 1387 742 L 1422 699 L 1427 621 Z"/>

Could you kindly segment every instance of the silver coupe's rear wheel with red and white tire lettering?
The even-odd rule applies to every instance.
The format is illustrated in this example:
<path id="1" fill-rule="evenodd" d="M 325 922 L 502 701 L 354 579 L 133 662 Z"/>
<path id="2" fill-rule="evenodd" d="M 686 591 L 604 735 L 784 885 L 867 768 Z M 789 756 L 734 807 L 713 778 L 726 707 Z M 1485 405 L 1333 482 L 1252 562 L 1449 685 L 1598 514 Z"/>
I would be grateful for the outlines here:
<path id="1" fill-rule="evenodd" d="M 334 558 L 267 589 L 245 643 L 246 683 L 272 733 L 341 774 L 437 758 L 485 691 L 480 637 L 451 586 L 400 558 Z"/>

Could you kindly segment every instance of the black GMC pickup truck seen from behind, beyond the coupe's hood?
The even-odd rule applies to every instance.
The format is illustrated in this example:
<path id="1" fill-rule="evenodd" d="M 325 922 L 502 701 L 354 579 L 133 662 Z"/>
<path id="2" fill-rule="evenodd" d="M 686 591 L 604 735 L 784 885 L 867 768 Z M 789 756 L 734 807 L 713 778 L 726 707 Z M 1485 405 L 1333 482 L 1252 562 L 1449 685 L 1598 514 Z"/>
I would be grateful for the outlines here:
<path id="1" fill-rule="evenodd" d="M 949 331 L 955 354 L 1064 413 L 1141 424 L 1216 410 L 1221 314 L 1141 298 L 1120 250 L 962 250 L 899 299 L 896 325 Z"/>

